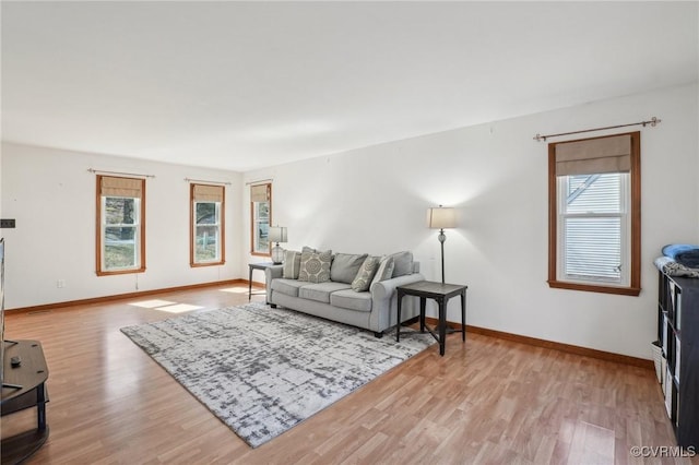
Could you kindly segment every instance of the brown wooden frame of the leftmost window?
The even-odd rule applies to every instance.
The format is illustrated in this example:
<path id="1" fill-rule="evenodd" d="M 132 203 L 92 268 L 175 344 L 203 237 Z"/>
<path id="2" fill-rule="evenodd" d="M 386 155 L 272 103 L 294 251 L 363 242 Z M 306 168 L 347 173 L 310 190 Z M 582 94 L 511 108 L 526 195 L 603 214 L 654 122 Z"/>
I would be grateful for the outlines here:
<path id="1" fill-rule="evenodd" d="M 141 196 L 130 196 L 130 195 L 103 195 L 102 186 L 104 178 L 122 178 L 131 181 L 138 181 L 141 184 Z M 119 274 L 132 274 L 132 273 L 143 273 L 145 272 L 145 179 L 142 178 L 129 178 L 123 176 L 105 176 L 97 175 L 97 189 L 96 189 L 96 228 L 95 228 L 95 246 L 96 246 L 96 274 L 97 276 L 110 276 L 110 275 L 119 275 Z M 137 264 L 133 267 L 129 269 L 118 269 L 118 270 L 106 270 L 104 264 L 104 247 L 106 246 L 105 234 L 106 228 L 108 227 L 105 223 L 106 212 L 104 208 L 104 203 L 107 198 L 119 198 L 119 199 L 137 199 L 138 202 L 134 204 L 138 205 L 138 225 L 135 225 L 137 231 L 134 234 L 134 240 L 138 241 L 135 245 L 137 250 Z M 130 226 L 130 225 L 129 225 Z"/>

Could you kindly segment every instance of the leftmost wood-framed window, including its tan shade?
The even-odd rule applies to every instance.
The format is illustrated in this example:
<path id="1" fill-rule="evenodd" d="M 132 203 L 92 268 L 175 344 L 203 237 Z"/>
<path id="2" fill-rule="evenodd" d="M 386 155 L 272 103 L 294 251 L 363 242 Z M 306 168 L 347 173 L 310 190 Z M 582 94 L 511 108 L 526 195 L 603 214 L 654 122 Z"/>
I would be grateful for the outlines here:
<path id="1" fill-rule="evenodd" d="M 97 275 L 145 271 L 145 180 L 97 175 Z"/>

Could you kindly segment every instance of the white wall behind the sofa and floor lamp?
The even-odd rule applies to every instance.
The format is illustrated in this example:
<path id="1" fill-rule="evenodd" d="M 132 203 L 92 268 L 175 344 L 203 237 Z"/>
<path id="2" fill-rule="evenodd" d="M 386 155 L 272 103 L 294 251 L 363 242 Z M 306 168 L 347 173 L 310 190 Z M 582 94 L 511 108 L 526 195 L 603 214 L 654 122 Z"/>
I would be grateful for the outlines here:
<path id="1" fill-rule="evenodd" d="M 274 223 L 288 227 L 288 249 L 412 250 L 430 279 L 440 278 L 439 242 L 437 231 L 426 227 L 426 208 L 455 206 L 460 226 L 447 231 L 446 277 L 469 285 L 469 324 L 650 358 L 656 331 L 653 259 L 665 243 L 699 242 L 697 95 L 696 84 L 662 90 L 286 164 L 245 178 L 273 178 Z M 641 129 L 641 295 L 549 288 L 547 144 L 532 138 L 653 116 L 662 123 Z M 458 315 L 454 299 L 449 320 L 459 321 Z"/>

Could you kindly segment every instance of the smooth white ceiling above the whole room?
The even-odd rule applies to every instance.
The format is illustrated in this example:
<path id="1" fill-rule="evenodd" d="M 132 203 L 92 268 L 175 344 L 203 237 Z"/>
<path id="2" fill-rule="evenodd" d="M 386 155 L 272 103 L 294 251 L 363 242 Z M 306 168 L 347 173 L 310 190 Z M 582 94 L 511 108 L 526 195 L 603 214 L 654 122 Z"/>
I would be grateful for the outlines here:
<path id="1" fill-rule="evenodd" d="M 247 171 L 696 82 L 698 5 L 2 1 L 2 140 Z"/>

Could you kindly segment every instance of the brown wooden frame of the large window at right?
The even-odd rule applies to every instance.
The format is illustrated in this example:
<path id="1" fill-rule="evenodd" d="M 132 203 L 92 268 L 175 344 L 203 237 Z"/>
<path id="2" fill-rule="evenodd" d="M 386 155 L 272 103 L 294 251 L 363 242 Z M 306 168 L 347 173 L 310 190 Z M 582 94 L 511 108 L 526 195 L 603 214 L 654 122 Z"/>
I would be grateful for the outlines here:
<path id="1" fill-rule="evenodd" d="M 628 179 L 628 230 L 623 238 L 628 243 L 629 283 L 613 284 L 593 281 L 568 281 L 561 278 L 562 263 L 559 263 L 559 227 L 560 193 L 559 181 L 556 176 L 556 146 L 570 142 L 582 142 L 618 135 L 630 135 L 630 170 Z M 641 163 L 640 163 L 640 131 L 603 135 L 599 138 L 562 141 L 548 144 L 548 286 L 559 289 L 572 289 L 592 293 L 638 296 L 641 291 Z M 623 193 L 624 195 L 625 193 Z M 623 226 L 624 228 L 624 226 Z M 624 247 L 623 247 L 624 250 Z M 624 254 L 624 252 L 623 252 Z"/>

